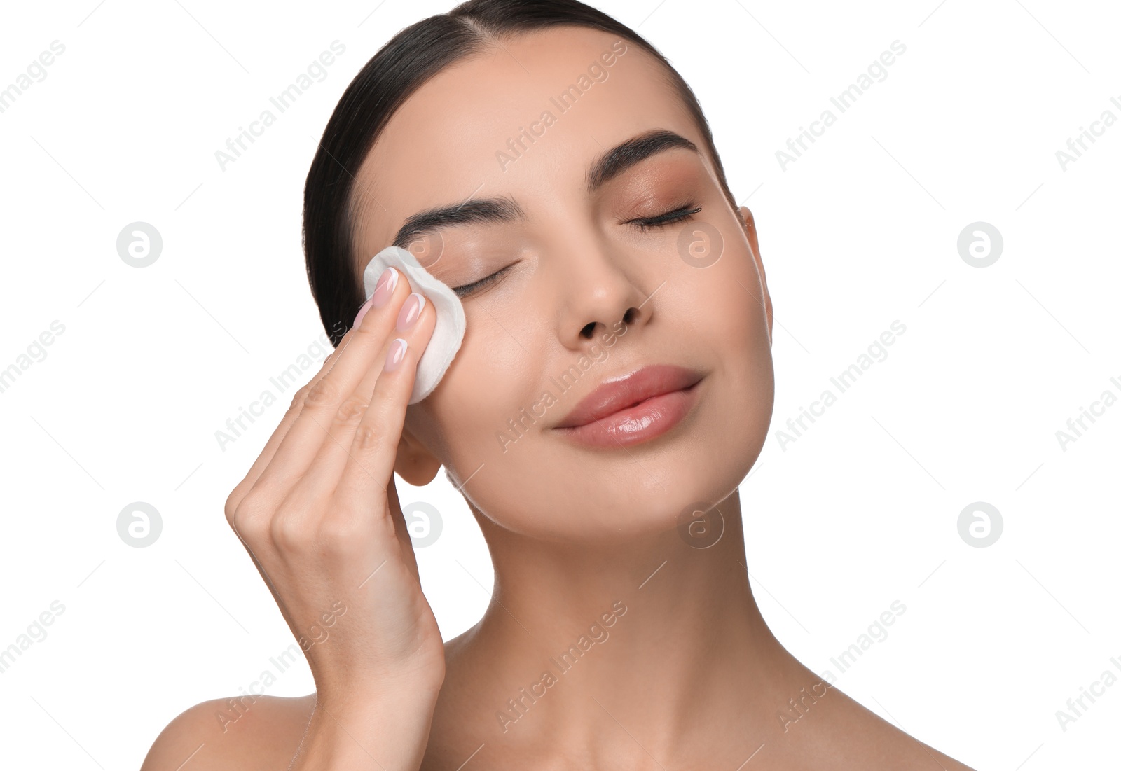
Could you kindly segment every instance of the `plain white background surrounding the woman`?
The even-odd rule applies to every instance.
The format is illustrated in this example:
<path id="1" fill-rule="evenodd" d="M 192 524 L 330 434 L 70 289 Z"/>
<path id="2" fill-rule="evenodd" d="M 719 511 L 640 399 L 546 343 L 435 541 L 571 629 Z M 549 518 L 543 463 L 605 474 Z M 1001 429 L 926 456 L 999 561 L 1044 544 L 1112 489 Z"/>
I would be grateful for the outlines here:
<path id="1" fill-rule="evenodd" d="M 1066 731 L 1056 710 L 1121 675 L 1121 406 L 1065 449 L 1056 431 L 1104 390 L 1121 397 L 1121 123 L 1065 169 L 1056 150 L 1105 110 L 1121 119 L 1121 11 L 596 4 L 693 86 L 756 215 L 777 398 L 741 493 L 775 633 L 836 674 L 830 658 L 898 600 L 906 613 L 839 687 L 978 769 L 1115 763 L 1121 686 Z M 0 113 L 0 368 L 52 322 L 65 332 L 0 393 L 0 648 L 52 602 L 65 611 L 0 675 L 3 765 L 136 769 L 175 715 L 248 689 L 293 643 L 222 513 L 290 391 L 224 450 L 215 431 L 323 333 L 300 207 L 340 94 L 390 36 L 451 7 L 6 8 L 0 87 L 52 40 L 66 48 Z M 326 78 L 222 170 L 215 150 L 335 39 L 346 52 Z M 888 77 L 833 108 L 836 123 L 784 170 L 776 150 L 893 40 L 907 49 Z M 143 269 L 115 245 L 137 221 L 164 240 Z M 978 221 L 1004 241 L 988 268 L 957 251 Z M 888 357 L 781 448 L 776 430 L 896 319 L 906 333 Z M 484 544 L 443 474 L 398 486 L 442 512 L 418 557 L 452 638 L 489 601 Z M 147 548 L 118 536 L 135 501 L 163 521 Z M 974 501 L 1002 515 L 985 548 L 958 535 Z M 313 689 L 300 661 L 266 693 Z"/>

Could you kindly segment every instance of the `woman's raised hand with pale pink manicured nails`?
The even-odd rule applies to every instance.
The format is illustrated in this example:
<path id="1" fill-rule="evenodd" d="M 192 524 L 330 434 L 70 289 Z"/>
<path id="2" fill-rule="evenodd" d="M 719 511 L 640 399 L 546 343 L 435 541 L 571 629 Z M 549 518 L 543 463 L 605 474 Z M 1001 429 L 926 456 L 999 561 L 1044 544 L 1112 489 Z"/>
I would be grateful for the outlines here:
<path id="1" fill-rule="evenodd" d="M 368 307 L 296 393 L 225 502 L 327 710 L 387 689 L 434 702 L 444 679 L 443 639 L 393 482 L 416 364 L 436 323 L 425 301 L 407 331 L 396 328 L 410 291 L 398 271 L 388 301 Z M 387 372 L 396 337 L 408 346 Z"/>

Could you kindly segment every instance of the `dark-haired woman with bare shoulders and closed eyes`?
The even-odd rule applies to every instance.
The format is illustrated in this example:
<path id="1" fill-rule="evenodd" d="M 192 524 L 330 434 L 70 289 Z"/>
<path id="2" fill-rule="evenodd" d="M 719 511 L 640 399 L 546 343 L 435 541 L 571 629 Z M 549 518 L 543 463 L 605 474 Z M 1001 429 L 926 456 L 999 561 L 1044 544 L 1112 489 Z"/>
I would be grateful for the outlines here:
<path id="1" fill-rule="evenodd" d="M 363 304 L 389 244 L 467 319 L 413 406 L 435 316 L 392 271 Z M 197 705 L 146 770 L 967 768 L 759 613 L 738 493 L 773 402 L 758 236 L 692 91 L 633 31 L 575 0 L 402 30 L 327 124 L 305 250 L 324 327 L 351 328 L 225 512 L 316 693 L 240 699 L 233 726 Z M 495 572 L 446 643 L 393 484 L 441 466 Z"/>

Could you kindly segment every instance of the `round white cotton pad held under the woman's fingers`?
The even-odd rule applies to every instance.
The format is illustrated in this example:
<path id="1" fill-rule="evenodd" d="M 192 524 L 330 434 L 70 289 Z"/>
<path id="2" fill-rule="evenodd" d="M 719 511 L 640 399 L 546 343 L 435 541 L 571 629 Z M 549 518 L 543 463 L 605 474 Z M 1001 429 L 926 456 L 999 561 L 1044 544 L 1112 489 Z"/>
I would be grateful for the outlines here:
<path id="1" fill-rule="evenodd" d="M 413 384 L 413 396 L 409 403 L 415 405 L 429 393 L 439 383 L 441 378 L 447 372 L 452 360 L 463 343 L 463 333 L 466 329 L 466 317 L 463 314 L 463 303 L 452 288 L 429 273 L 421 266 L 413 252 L 400 247 L 386 247 L 373 256 L 370 264 L 362 273 L 362 284 L 365 289 L 367 299 L 373 294 L 378 286 L 378 279 L 386 268 L 392 266 L 404 272 L 409 280 L 413 291 L 424 295 L 436 308 L 436 328 L 432 332 L 432 340 L 420 355 L 420 363 L 417 365 L 416 382 Z"/>

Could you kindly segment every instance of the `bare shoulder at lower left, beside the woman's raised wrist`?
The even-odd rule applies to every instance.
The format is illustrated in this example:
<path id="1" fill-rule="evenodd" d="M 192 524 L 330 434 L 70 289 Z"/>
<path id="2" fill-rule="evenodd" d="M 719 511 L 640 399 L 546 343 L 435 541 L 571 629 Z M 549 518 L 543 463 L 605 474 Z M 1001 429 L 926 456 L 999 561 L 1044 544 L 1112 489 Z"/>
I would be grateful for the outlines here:
<path id="1" fill-rule="evenodd" d="M 304 737 L 315 694 L 202 702 L 160 732 L 140 771 L 261 771 L 287 768 Z"/>

